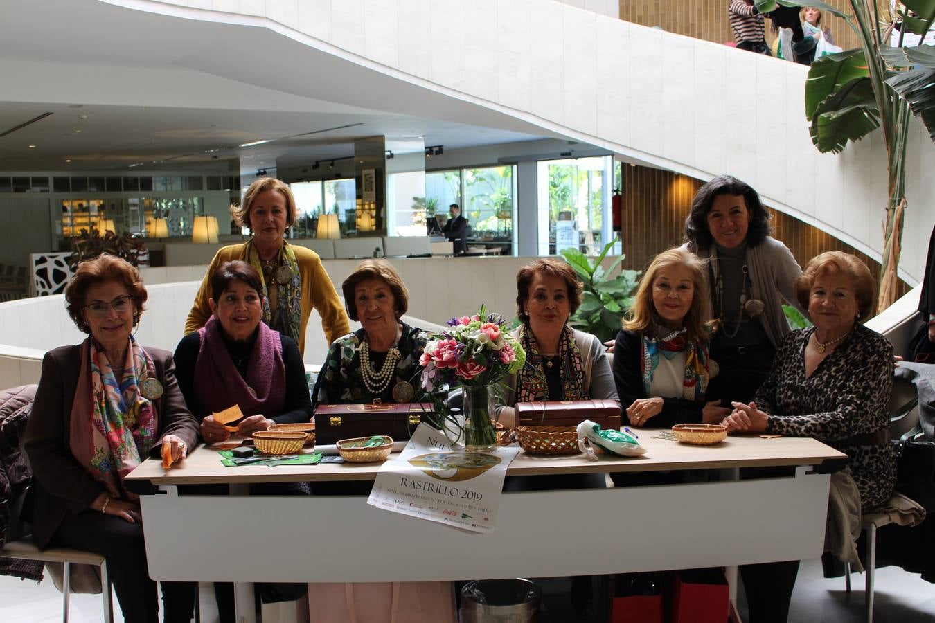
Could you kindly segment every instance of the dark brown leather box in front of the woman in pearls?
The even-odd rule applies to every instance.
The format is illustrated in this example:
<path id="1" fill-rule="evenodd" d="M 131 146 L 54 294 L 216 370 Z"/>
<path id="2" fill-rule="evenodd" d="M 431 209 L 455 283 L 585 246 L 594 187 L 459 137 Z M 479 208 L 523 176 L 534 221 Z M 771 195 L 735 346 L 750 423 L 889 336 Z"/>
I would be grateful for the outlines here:
<path id="1" fill-rule="evenodd" d="M 340 439 L 371 435 L 407 441 L 426 411 L 432 411 L 432 404 L 319 404 L 315 409 L 315 444 L 329 446 Z"/>

